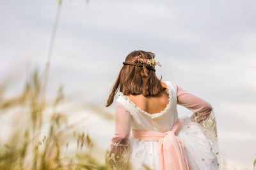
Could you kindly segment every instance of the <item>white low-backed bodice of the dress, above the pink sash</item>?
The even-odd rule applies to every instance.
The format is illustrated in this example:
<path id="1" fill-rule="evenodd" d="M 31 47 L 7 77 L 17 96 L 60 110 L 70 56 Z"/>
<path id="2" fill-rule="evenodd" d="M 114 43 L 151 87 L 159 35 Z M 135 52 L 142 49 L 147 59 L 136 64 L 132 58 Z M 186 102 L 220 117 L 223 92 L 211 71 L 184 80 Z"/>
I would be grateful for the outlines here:
<path id="1" fill-rule="evenodd" d="M 150 114 L 136 106 L 129 97 L 122 92 L 116 102 L 122 104 L 131 114 L 131 128 L 136 130 L 170 131 L 176 120 L 179 118 L 177 113 L 177 87 L 172 81 L 164 81 L 168 89 L 169 103 L 163 111 Z"/>

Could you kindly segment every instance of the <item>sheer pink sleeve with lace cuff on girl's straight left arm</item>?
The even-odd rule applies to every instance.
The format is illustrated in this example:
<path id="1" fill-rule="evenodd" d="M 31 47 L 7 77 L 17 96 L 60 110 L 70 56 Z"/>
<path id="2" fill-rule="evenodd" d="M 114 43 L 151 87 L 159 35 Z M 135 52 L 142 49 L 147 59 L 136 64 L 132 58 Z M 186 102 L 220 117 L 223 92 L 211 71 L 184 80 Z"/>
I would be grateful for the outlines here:
<path id="1" fill-rule="evenodd" d="M 115 106 L 115 134 L 111 146 L 106 152 L 106 164 L 111 169 L 126 169 L 129 155 L 129 134 L 131 131 L 131 115 L 124 106 Z"/>

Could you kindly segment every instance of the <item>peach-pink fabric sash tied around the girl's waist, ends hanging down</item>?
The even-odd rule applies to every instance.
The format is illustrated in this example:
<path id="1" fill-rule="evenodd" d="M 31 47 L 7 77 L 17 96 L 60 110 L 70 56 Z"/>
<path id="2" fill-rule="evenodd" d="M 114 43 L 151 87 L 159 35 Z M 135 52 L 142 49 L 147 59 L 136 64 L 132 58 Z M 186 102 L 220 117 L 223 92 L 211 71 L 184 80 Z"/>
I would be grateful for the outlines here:
<path id="1" fill-rule="evenodd" d="M 178 136 L 175 136 L 181 129 L 182 124 L 178 118 L 171 131 L 161 133 L 132 129 L 132 135 L 133 138 L 144 141 L 158 141 L 160 170 L 190 170 L 191 166 L 186 157 L 183 143 Z"/>

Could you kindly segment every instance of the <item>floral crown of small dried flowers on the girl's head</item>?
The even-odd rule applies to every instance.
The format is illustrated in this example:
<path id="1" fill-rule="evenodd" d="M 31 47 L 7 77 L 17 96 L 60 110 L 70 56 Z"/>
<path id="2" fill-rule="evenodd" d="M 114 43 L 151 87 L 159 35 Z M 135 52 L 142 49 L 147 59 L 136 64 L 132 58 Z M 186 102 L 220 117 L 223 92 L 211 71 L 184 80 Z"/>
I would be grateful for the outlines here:
<path id="1" fill-rule="evenodd" d="M 147 67 L 152 71 L 156 71 L 155 66 L 160 66 L 160 62 L 156 62 L 155 59 L 142 59 L 141 55 L 137 55 L 131 62 L 123 62 L 124 65 L 138 66 L 138 67 Z"/>

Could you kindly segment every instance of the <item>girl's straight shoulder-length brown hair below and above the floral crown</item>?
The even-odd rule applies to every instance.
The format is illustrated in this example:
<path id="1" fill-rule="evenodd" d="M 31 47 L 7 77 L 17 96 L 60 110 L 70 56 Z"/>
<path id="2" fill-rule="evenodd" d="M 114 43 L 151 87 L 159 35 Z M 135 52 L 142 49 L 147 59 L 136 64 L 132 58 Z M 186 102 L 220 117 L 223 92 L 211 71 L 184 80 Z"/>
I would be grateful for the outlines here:
<path id="1" fill-rule="evenodd" d="M 131 62 L 134 57 L 138 55 L 141 55 L 141 58 L 143 59 L 154 59 L 155 57 L 155 54 L 152 52 L 138 50 L 129 53 L 125 62 Z M 152 69 L 147 69 L 147 67 L 124 65 L 112 87 L 106 107 L 113 103 L 118 89 L 120 89 L 120 92 L 123 92 L 124 95 L 143 94 L 143 96 L 155 96 L 159 92 L 166 90 L 166 88 L 161 85 L 161 80 L 162 76 L 159 80 Z"/>

